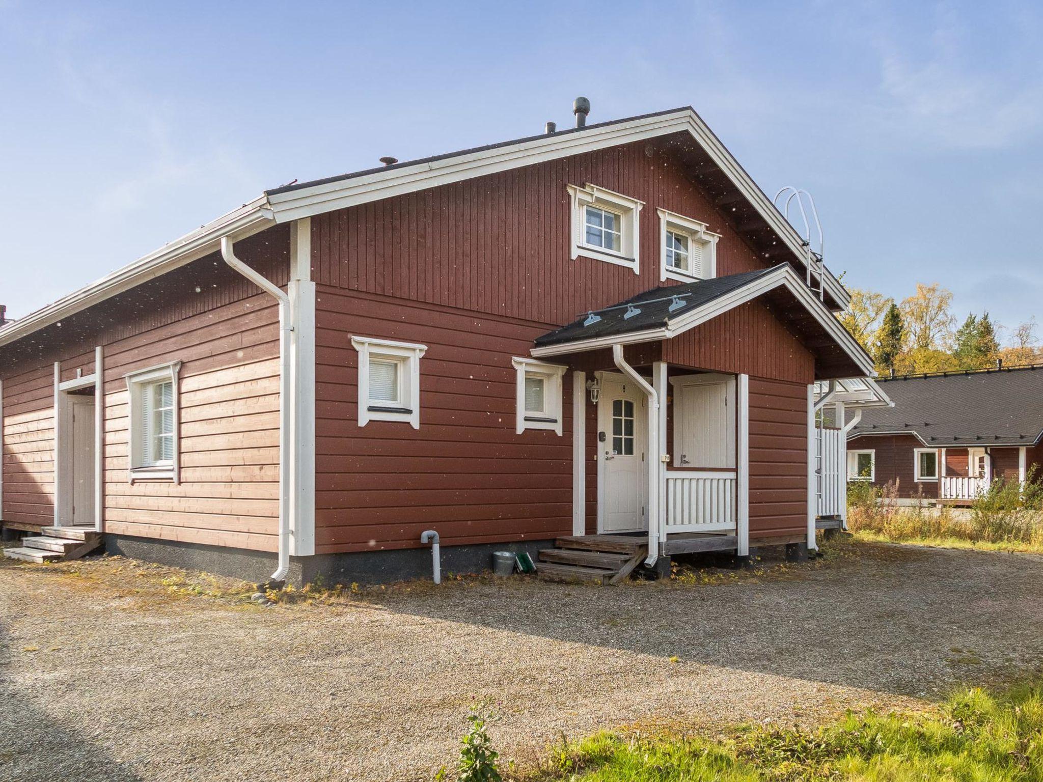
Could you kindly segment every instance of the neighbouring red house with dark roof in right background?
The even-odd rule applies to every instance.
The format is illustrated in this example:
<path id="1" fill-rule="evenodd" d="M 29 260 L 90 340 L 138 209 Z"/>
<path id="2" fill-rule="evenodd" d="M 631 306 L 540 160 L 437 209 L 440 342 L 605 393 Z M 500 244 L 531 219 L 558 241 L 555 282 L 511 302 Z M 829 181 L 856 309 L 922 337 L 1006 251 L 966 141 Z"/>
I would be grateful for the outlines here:
<path id="1" fill-rule="evenodd" d="M 848 478 L 902 499 L 968 503 L 1043 463 L 1043 366 L 877 378 L 893 408 L 848 435 Z"/>

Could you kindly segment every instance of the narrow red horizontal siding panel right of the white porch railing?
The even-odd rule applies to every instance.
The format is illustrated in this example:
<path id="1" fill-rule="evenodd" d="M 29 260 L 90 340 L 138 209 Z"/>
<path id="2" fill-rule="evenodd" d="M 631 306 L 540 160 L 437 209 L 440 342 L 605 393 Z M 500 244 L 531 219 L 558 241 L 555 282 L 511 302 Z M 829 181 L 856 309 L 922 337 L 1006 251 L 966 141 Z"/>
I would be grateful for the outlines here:
<path id="1" fill-rule="evenodd" d="M 750 378 L 750 538 L 807 532 L 807 386 Z"/>

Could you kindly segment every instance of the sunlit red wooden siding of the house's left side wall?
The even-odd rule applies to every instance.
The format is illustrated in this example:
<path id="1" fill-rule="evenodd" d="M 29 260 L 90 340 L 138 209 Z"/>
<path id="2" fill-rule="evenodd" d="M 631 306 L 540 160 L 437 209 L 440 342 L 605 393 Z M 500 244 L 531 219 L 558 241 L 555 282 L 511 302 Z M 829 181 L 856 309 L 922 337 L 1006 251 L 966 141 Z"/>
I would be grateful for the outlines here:
<path id="1" fill-rule="evenodd" d="M 237 251 L 284 284 L 289 237 L 274 228 Z M 274 551 L 278 496 L 278 331 L 270 296 L 217 256 L 196 261 L 0 348 L 7 521 L 54 514 L 53 362 L 62 378 L 94 371 L 104 349 L 104 529 L 152 538 Z M 180 483 L 128 483 L 123 375 L 180 369 Z"/>

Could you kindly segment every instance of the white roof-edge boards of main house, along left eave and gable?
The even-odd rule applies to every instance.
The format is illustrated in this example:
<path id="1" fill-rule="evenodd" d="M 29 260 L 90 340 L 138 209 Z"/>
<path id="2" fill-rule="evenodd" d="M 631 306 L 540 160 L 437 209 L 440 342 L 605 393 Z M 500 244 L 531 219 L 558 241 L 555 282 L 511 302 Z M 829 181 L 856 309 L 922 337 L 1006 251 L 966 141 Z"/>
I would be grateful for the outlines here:
<path id="1" fill-rule="evenodd" d="M 274 188 L 118 271 L 0 326 L 0 345 L 215 252 L 223 236 L 238 241 L 278 223 L 333 210 L 678 132 L 696 141 L 741 197 L 751 204 L 758 219 L 781 240 L 783 248 L 790 251 L 786 260 L 805 265 L 806 250 L 801 237 L 702 118 L 690 106 L 684 106 Z M 849 294 L 828 269 L 822 268 L 825 292 L 846 307 Z"/>

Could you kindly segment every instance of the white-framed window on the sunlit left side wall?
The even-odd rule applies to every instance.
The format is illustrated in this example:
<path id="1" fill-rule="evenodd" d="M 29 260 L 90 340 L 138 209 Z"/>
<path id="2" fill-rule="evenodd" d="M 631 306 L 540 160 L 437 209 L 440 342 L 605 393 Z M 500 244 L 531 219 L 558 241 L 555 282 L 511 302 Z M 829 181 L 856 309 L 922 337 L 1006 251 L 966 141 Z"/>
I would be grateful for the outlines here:
<path id="1" fill-rule="evenodd" d="M 126 375 L 130 396 L 130 480 L 177 480 L 180 362 Z"/>

